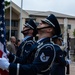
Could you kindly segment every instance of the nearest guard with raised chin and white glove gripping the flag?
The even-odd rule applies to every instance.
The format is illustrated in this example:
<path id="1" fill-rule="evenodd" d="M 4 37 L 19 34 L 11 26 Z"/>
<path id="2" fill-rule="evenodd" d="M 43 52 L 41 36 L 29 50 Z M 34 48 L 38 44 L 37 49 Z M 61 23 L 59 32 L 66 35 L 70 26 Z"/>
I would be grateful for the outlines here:
<path id="1" fill-rule="evenodd" d="M 5 58 L 0 58 L 0 68 L 8 70 L 9 75 L 49 75 L 49 70 L 56 56 L 54 46 L 50 42 L 50 38 L 55 35 L 57 29 L 55 25 L 58 25 L 57 19 L 51 14 L 41 20 L 37 26 L 39 45 L 31 64 L 9 63 Z"/>

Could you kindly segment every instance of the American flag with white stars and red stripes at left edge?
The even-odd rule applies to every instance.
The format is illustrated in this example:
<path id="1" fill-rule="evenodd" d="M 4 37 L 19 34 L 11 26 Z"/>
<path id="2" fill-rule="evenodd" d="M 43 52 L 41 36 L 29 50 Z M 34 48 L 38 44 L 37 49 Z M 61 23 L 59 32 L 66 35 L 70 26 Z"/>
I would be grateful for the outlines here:
<path id="1" fill-rule="evenodd" d="M 0 0 L 0 58 L 6 57 L 4 4 L 4 0 Z M 0 69 L 0 75 L 8 75 L 8 72 L 6 70 Z"/>

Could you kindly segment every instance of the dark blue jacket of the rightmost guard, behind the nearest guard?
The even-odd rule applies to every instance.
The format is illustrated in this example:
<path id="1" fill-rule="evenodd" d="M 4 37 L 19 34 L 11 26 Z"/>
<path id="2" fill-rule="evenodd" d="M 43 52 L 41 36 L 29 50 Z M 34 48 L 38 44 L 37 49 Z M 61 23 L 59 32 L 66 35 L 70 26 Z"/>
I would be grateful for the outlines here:
<path id="1" fill-rule="evenodd" d="M 65 66 L 68 64 L 64 58 L 64 53 L 58 45 L 54 45 L 56 58 L 52 66 L 51 75 L 65 75 Z"/>

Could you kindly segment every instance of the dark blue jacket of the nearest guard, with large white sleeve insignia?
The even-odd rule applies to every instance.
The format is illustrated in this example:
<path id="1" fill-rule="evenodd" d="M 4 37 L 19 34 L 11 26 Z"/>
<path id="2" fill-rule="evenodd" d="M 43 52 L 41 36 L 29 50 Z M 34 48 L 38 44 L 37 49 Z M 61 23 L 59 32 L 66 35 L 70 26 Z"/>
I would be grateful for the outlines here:
<path id="1" fill-rule="evenodd" d="M 45 38 L 39 42 L 33 62 L 24 65 L 11 63 L 9 75 L 49 75 L 54 59 L 55 49 L 50 43 L 50 38 Z"/>

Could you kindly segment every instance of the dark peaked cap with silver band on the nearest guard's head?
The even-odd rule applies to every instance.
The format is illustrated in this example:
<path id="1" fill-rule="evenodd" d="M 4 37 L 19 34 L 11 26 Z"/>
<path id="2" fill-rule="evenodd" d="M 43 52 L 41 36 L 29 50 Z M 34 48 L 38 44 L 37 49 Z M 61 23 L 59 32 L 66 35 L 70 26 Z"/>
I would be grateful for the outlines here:
<path id="1" fill-rule="evenodd" d="M 46 19 L 41 20 L 41 21 L 49 24 L 50 26 L 53 26 L 55 29 L 55 35 L 61 34 L 60 25 L 58 23 L 57 18 L 53 14 L 51 14 Z"/>

